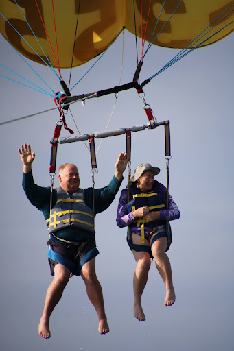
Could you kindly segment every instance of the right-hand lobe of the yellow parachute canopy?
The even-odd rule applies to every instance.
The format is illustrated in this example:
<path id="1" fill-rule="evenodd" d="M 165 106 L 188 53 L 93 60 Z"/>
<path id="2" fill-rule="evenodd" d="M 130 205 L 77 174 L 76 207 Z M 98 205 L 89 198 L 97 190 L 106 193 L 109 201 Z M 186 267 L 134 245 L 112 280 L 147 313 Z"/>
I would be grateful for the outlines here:
<path id="1" fill-rule="evenodd" d="M 137 36 L 141 37 L 141 0 L 135 0 L 135 16 L 137 23 Z M 150 40 L 152 33 L 154 31 L 154 27 L 156 25 L 157 19 L 159 19 L 159 23 L 154 32 L 153 39 L 156 38 L 157 34 L 160 32 L 162 27 L 165 25 L 170 16 L 172 16 L 167 25 L 163 27 L 161 34 L 156 38 L 154 44 L 160 45 L 161 47 L 174 47 L 178 49 L 183 49 L 186 45 L 188 45 L 191 40 L 194 40 L 204 29 L 206 29 L 215 19 L 218 18 L 233 3 L 231 0 L 183 0 L 180 3 L 180 0 L 167 0 L 165 1 L 165 6 L 159 18 L 161 9 L 163 7 L 164 1 L 152 0 L 151 8 L 150 8 L 150 16 L 148 21 L 147 32 L 145 36 L 145 40 Z M 145 23 L 148 17 L 148 8 L 150 0 L 143 0 L 143 33 L 145 33 Z M 178 9 L 175 14 L 172 15 L 176 6 Z M 231 8 L 233 10 L 233 8 Z M 231 12 L 229 10 L 229 12 Z M 229 12 L 226 12 L 228 14 Z M 229 24 L 234 19 L 233 12 L 230 16 L 227 16 L 226 19 L 224 17 L 226 14 L 223 14 L 220 19 L 216 22 L 220 22 L 213 30 L 211 30 L 208 34 L 203 36 L 200 41 L 209 38 L 215 32 L 218 32 L 219 29 L 222 29 L 225 25 Z M 134 12 L 132 10 L 132 1 L 126 1 L 126 29 L 135 33 L 134 28 Z M 215 25 L 214 23 L 212 27 Z M 216 41 L 224 38 L 231 32 L 233 32 L 234 23 L 223 29 L 218 34 L 215 34 L 212 38 L 207 40 L 202 46 L 209 45 L 211 43 L 215 43 Z M 206 31 L 207 32 L 207 31 Z M 196 41 L 196 40 L 194 40 Z M 194 46 L 198 45 L 199 42 L 194 43 Z"/>

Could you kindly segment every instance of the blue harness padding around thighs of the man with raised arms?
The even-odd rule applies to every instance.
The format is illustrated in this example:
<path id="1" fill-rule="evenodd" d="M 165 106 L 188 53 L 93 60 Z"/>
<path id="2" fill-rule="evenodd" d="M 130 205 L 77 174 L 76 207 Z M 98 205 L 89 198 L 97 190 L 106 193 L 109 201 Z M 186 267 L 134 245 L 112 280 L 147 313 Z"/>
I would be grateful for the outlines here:
<path id="1" fill-rule="evenodd" d="M 99 251 L 97 250 L 97 247 L 93 247 L 93 249 L 91 249 L 82 258 L 80 258 L 80 262 L 78 261 L 77 263 L 69 260 L 69 258 L 66 258 L 65 256 L 58 254 L 57 252 L 54 252 L 51 248 L 49 249 L 47 256 L 56 263 L 60 263 L 61 265 L 67 267 L 75 276 L 80 276 L 80 271 L 83 265 L 89 262 L 98 254 Z"/>

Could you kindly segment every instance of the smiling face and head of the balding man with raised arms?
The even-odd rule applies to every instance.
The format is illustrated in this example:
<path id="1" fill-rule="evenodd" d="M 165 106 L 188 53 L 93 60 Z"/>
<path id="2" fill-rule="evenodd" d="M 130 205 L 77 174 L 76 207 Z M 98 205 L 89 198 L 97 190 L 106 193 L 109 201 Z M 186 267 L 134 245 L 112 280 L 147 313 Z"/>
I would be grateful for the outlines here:
<path id="1" fill-rule="evenodd" d="M 77 167 L 67 165 L 58 175 L 60 186 L 68 193 L 75 193 L 80 186 L 80 178 Z"/>

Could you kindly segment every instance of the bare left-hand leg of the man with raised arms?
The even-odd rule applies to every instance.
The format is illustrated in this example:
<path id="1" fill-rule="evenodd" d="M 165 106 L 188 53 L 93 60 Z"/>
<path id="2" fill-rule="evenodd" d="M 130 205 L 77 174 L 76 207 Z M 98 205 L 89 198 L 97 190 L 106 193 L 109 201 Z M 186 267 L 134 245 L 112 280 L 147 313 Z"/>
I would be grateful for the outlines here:
<path id="1" fill-rule="evenodd" d="M 44 311 L 38 326 L 40 337 L 45 337 L 45 339 L 50 337 L 49 318 L 54 310 L 54 307 L 56 304 L 58 304 L 60 298 L 62 297 L 63 290 L 69 281 L 69 277 L 70 271 L 67 267 L 61 265 L 60 263 L 54 267 L 54 280 L 47 289 Z"/>

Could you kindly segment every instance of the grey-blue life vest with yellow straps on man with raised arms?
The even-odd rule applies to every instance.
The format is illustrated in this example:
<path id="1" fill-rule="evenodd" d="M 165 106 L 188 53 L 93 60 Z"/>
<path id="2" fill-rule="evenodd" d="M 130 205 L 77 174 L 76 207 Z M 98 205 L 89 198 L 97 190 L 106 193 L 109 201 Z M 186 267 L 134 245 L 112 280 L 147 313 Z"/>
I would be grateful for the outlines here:
<path id="1" fill-rule="evenodd" d="M 57 201 L 51 209 L 51 217 L 47 219 L 49 233 L 61 228 L 73 226 L 94 233 L 94 213 L 84 202 L 84 190 L 78 189 L 73 194 L 67 193 L 60 186 L 57 191 Z"/>

